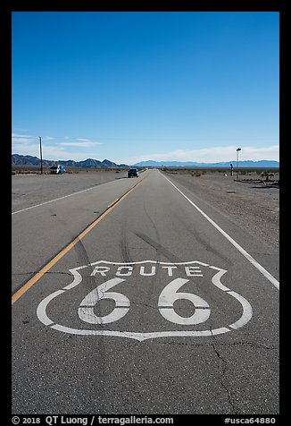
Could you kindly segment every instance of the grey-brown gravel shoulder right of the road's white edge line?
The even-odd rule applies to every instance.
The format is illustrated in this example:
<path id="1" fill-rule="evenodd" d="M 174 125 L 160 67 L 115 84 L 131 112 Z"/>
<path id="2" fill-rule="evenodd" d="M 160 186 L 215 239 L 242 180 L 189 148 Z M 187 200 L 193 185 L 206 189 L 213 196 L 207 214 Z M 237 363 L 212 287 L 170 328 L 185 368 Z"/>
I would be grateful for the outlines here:
<path id="1" fill-rule="evenodd" d="M 279 249 L 279 184 L 259 183 L 257 176 L 224 176 L 220 173 L 191 175 L 186 172 L 167 174 L 195 196 L 212 205 L 256 239 Z"/>

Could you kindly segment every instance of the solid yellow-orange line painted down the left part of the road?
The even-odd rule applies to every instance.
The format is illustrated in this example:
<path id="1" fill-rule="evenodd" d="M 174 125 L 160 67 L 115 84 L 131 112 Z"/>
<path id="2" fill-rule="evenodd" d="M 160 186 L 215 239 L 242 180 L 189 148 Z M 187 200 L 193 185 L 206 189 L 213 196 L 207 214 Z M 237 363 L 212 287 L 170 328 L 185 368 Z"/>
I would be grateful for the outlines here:
<path id="1" fill-rule="evenodd" d="M 74 240 L 72 240 L 71 243 L 66 245 L 62 249 L 62 251 L 60 251 L 56 256 L 54 256 L 54 259 L 52 259 L 48 263 L 46 263 L 46 265 L 43 268 L 41 268 L 36 273 L 36 275 L 34 275 L 32 278 L 30 278 L 27 283 L 22 285 L 21 288 L 16 293 L 12 294 L 12 304 L 14 302 L 16 302 L 21 297 L 22 294 L 26 293 L 32 285 L 36 284 L 38 279 L 43 277 L 50 268 L 53 268 L 53 266 L 60 259 L 62 259 L 62 257 L 65 254 L 67 254 L 67 252 L 70 251 L 72 249 L 72 247 L 74 247 L 74 245 L 76 245 L 82 238 L 84 238 L 84 236 L 87 233 L 89 233 L 105 216 L 108 215 L 108 213 L 110 213 L 112 211 L 112 209 L 114 209 L 122 200 L 124 200 L 125 197 L 127 197 L 129 195 L 129 193 L 132 192 L 137 187 L 137 185 L 139 185 L 139 183 L 142 183 L 142 181 L 144 179 L 142 179 L 141 181 L 136 183 L 132 188 L 130 188 L 130 190 L 128 192 L 125 192 L 125 194 L 123 194 L 121 196 L 121 198 L 118 198 L 118 199 L 114 200 L 111 204 L 109 204 L 108 208 L 104 211 L 104 213 L 101 216 L 96 218 L 96 220 L 94 222 L 92 222 L 91 225 L 87 226 L 87 228 L 84 229 L 84 231 L 82 231 Z"/>

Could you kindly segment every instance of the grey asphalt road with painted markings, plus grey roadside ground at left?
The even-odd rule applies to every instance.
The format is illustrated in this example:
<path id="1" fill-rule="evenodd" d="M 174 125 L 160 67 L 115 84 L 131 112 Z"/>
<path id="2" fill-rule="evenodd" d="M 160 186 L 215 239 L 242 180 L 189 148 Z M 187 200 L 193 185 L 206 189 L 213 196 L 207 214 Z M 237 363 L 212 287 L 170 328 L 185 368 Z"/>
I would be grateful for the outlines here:
<path id="1" fill-rule="evenodd" d="M 13 177 L 12 413 L 279 413 L 262 242 L 158 170 Z"/>

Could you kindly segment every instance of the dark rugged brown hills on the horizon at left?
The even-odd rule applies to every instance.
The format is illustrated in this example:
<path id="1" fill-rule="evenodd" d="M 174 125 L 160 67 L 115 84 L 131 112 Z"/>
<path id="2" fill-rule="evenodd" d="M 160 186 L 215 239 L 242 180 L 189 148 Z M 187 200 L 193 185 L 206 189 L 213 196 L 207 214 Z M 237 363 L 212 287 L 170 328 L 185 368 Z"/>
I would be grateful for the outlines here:
<path id="1" fill-rule="evenodd" d="M 43 159 L 43 166 L 49 167 L 54 164 L 62 164 L 65 167 L 83 167 L 83 168 L 128 168 L 126 164 L 115 164 L 108 159 L 99 161 L 93 158 L 87 158 L 83 161 L 74 160 L 46 160 Z M 32 156 L 21 156 L 20 154 L 12 154 L 12 166 L 40 166 L 40 159 Z"/>

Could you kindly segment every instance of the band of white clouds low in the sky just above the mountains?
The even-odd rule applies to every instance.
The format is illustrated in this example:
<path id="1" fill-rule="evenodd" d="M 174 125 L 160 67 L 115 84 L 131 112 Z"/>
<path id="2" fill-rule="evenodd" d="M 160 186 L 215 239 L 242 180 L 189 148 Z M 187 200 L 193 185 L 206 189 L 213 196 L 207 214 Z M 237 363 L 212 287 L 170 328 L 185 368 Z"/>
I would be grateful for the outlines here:
<path id="1" fill-rule="evenodd" d="M 96 147 L 102 145 L 99 141 L 92 141 L 88 138 L 76 138 L 71 136 L 43 137 L 43 158 L 46 159 L 73 159 L 75 161 L 85 158 L 98 158 L 100 152 Z M 235 142 L 236 143 L 236 142 Z M 174 149 L 161 153 L 145 153 L 130 158 L 126 152 L 122 153 L 122 158 L 110 158 L 110 154 L 103 153 L 104 158 L 110 158 L 116 163 L 134 164 L 139 161 L 194 161 L 199 163 L 218 163 L 222 161 L 236 161 L 237 147 L 241 148 L 239 160 L 258 161 L 262 159 L 279 161 L 279 144 L 270 146 L 246 145 L 243 141 L 233 143 L 228 146 L 216 146 L 199 149 Z M 39 158 L 39 137 L 18 129 L 12 133 L 12 153 L 21 155 L 31 155 Z M 127 157 L 125 157 L 127 156 Z"/>

